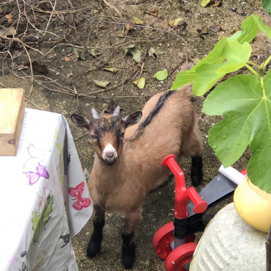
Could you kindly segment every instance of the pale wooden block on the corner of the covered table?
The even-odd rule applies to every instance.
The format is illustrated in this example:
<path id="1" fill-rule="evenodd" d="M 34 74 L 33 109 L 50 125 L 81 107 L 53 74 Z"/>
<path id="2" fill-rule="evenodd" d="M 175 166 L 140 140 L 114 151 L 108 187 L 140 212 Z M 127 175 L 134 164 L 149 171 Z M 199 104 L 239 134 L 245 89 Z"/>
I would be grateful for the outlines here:
<path id="1" fill-rule="evenodd" d="M 16 155 L 24 106 L 22 88 L 0 88 L 0 156 Z"/>

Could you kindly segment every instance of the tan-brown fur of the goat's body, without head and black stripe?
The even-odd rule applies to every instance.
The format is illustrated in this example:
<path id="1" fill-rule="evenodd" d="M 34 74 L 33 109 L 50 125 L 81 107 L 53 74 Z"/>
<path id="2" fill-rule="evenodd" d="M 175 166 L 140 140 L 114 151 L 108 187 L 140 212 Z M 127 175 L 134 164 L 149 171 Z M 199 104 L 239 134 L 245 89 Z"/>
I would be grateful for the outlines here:
<path id="1" fill-rule="evenodd" d="M 123 151 L 121 155 L 118 153 L 115 165 L 108 167 L 96 157 L 88 180 L 94 204 L 125 214 L 128 231 L 134 231 L 142 218 L 146 194 L 167 179 L 169 170 L 162 167 L 162 160 L 170 154 L 190 157 L 202 152 L 190 85 L 168 98 L 139 139 L 128 141 L 162 94 L 153 96 L 142 111 L 141 121 L 126 129 Z M 99 152 L 97 146 L 94 149 Z"/>

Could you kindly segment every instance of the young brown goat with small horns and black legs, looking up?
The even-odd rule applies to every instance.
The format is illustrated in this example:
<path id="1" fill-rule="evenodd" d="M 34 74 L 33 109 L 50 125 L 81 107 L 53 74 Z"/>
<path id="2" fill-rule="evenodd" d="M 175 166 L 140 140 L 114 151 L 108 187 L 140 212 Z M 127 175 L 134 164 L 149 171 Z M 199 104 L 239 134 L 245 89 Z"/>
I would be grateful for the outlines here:
<path id="1" fill-rule="evenodd" d="M 131 269 L 135 259 L 133 236 L 142 220 L 143 200 L 170 174 L 161 165 L 163 158 L 169 154 L 192 157 L 192 184 L 197 186 L 202 180 L 202 142 L 191 84 L 154 95 L 142 111 L 125 118 L 118 106 L 113 115 L 100 116 L 93 108 L 91 121 L 76 114 L 71 119 L 90 133 L 96 153 L 88 180 L 94 230 L 87 256 L 92 258 L 101 250 L 105 210 L 120 212 L 125 215 L 122 263 Z"/>

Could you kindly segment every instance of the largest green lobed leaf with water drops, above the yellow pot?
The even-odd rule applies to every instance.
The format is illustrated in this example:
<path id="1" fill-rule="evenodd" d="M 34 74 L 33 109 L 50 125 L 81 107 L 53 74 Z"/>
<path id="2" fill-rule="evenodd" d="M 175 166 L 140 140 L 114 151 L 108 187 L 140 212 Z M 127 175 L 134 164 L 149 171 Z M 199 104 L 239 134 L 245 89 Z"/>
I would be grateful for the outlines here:
<path id="1" fill-rule="evenodd" d="M 208 136 L 224 167 L 235 163 L 250 145 L 250 180 L 271 193 L 271 71 L 264 78 L 264 89 L 253 75 L 229 78 L 208 95 L 203 112 L 225 116 Z"/>

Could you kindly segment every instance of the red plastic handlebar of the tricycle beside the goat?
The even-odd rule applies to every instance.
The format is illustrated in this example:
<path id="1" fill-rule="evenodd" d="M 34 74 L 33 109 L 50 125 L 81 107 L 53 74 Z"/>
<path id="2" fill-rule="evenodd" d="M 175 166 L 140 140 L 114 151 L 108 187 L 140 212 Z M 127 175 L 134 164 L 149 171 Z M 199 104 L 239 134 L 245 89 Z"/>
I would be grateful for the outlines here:
<path id="1" fill-rule="evenodd" d="M 195 205 L 195 213 L 204 212 L 208 207 L 207 202 L 201 199 L 195 188 L 186 188 L 185 175 L 177 164 L 175 156 L 173 154 L 167 156 L 163 160 L 162 165 L 164 167 L 169 167 L 175 176 L 175 217 L 184 219 L 188 216 L 187 203 L 189 200 Z"/>

